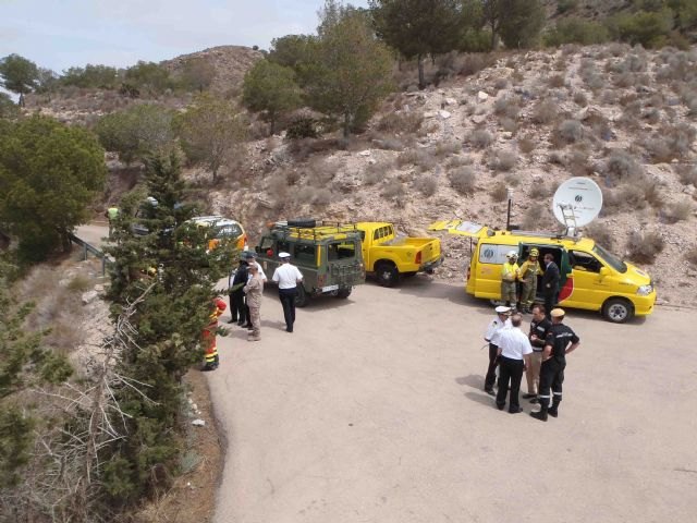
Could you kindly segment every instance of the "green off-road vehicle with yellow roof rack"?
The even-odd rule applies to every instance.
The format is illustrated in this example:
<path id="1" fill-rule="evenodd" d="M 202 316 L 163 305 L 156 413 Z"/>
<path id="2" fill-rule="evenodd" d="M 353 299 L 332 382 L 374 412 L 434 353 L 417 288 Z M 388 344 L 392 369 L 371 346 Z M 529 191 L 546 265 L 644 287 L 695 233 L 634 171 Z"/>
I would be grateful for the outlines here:
<path id="1" fill-rule="evenodd" d="M 281 265 L 279 253 L 291 254 L 291 263 L 303 273 L 303 284 L 295 297 L 297 307 L 307 305 L 310 296 L 348 297 L 354 285 L 366 280 L 360 231 L 353 224 L 277 221 L 264 233 L 255 251 L 269 281 Z"/>

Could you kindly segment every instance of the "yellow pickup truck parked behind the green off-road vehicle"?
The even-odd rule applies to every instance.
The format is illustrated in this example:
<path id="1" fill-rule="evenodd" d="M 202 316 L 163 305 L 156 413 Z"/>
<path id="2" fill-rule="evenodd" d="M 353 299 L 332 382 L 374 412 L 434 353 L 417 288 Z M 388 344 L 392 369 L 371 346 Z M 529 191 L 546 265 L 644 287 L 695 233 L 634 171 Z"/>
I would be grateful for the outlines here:
<path id="1" fill-rule="evenodd" d="M 382 287 L 395 285 L 402 276 L 432 273 L 443 263 L 437 238 L 398 236 L 394 226 L 382 221 L 362 221 L 356 228 L 366 272 L 375 273 Z"/>

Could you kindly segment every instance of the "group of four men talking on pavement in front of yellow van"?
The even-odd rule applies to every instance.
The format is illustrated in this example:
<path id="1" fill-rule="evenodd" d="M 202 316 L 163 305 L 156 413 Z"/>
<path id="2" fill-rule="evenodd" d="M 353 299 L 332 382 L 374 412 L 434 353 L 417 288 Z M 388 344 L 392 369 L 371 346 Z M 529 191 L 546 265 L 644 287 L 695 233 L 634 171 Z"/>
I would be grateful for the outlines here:
<path id="1" fill-rule="evenodd" d="M 497 317 L 491 320 L 485 333 L 489 344 L 489 367 L 485 377 L 484 390 L 496 396 L 499 410 L 505 408 L 509 398 L 509 412 L 523 412 L 519 404 L 521 381 L 525 372 L 527 393 L 524 399 L 530 403 L 539 403 L 540 411 L 530 412 L 530 416 L 546 422 L 548 416 L 559 415 L 562 401 L 562 384 L 566 354 L 578 348 L 580 339 L 566 325 L 562 308 L 550 312 L 551 319 L 546 316 L 545 305 L 531 307 L 533 320 L 529 331 L 522 329 L 523 316 L 511 307 L 500 305 L 496 308 Z M 498 392 L 493 391 L 499 369 Z M 510 391 L 510 394 L 509 394 Z"/>

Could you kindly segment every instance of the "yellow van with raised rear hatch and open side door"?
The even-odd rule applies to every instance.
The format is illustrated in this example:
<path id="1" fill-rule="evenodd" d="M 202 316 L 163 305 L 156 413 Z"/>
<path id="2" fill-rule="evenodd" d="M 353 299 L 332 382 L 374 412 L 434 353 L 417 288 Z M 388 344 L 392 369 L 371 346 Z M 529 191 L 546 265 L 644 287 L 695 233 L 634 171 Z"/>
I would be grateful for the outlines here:
<path id="1" fill-rule="evenodd" d="M 649 275 L 621 260 L 591 239 L 499 231 L 462 220 L 438 221 L 429 229 L 473 239 L 466 291 L 476 297 L 500 300 L 501 265 L 505 254 L 517 250 L 518 259 L 525 260 L 529 251 L 536 247 L 540 259 L 551 253 L 559 266 L 561 306 L 600 311 L 616 324 L 653 312 L 656 289 Z M 541 291 L 539 282 L 537 289 Z"/>

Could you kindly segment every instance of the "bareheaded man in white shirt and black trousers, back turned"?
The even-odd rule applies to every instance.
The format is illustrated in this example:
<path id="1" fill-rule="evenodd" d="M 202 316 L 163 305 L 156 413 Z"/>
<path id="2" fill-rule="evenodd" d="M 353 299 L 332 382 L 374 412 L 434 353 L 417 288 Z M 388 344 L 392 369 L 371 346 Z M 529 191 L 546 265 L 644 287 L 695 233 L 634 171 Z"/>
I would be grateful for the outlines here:
<path id="1" fill-rule="evenodd" d="M 518 402 L 521 380 L 525 365 L 530 365 L 533 346 L 530 340 L 521 330 L 523 316 L 516 313 L 511 316 L 511 328 L 504 329 L 499 335 L 499 392 L 497 393 L 497 406 L 500 411 L 505 406 L 505 397 L 511 386 L 509 398 L 509 412 L 517 414 L 523 412 Z"/>

